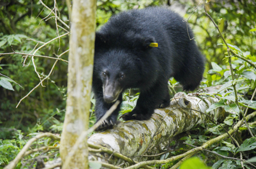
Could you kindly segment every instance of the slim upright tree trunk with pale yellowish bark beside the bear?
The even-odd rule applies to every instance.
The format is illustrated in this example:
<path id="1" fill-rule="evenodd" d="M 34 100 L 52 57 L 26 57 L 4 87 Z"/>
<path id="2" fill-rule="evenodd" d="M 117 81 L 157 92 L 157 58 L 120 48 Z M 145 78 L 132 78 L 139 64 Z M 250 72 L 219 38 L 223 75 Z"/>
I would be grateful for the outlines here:
<path id="1" fill-rule="evenodd" d="M 67 80 L 66 113 L 61 138 L 61 158 L 63 169 L 87 169 L 87 139 L 80 143 L 79 149 L 70 157 L 79 135 L 88 130 L 90 96 L 94 65 L 94 43 L 96 28 L 96 0 L 73 0 L 71 31 L 69 39 L 69 63 Z"/>

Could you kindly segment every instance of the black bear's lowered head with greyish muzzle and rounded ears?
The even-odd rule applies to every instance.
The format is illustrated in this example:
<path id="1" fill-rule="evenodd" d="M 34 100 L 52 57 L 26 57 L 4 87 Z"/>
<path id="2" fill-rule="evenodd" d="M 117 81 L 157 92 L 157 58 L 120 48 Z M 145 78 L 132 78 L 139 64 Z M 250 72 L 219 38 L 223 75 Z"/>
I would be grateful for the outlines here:
<path id="1" fill-rule="evenodd" d="M 144 76 L 152 37 L 96 33 L 94 77 L 102 82 L 105 102 L 115 102 L 127 88 L 137 88 Z M 150 59 L 150 58 L 147 58 Z"/>

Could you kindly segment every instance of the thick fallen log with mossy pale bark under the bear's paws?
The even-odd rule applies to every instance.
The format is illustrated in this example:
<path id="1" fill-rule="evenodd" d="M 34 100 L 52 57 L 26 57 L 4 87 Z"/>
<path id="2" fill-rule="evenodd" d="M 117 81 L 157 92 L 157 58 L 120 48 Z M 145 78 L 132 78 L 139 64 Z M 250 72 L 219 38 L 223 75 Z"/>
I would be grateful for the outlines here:
<path id="1" fill-rule="evenodd" d="M 209 116 L 211 116 L 210 119 L 215 120 L 224 118 L 226 114 L 222 107 L 206 115 L 209 106 L 218 101 L 214 97 L 201 99 L 195 93 L 185 95 L 179 92 L 171 99 L 170 106 L 156 109 L 151 119 L 119 121 L 113 129 L 92 135 L 88 143 L 105 146 L 131 158 L 143 155 L 147 151 L 159 153 L 169 143 L 168 140 L 204 123 L 207 118 L 210 118 Z M 100 153 L 89 155 L 89 159 L 115 165 L 122 162 L 117 158 L 106 160 L 105 155 L 102 156 Z M 142 159 L 135 158 L 135 160 Z"/>

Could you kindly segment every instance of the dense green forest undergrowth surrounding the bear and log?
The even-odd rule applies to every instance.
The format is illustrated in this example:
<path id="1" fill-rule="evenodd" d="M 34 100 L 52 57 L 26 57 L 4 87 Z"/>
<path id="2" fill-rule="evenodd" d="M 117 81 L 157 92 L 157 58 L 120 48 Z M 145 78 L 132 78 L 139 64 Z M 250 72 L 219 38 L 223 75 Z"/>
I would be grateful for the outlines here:
<path id="1" fill-rule="evenodd" d="M 169 143 L 165 153 L 155 157 L 167 159 L 223 135 L 246 115 L 256 111 L 256 2 L 97 0 L 96 27 L 100 28 L 121 11 L 156 5 L 184 16 L 184 22 L 188 22 L 194 31 L 194 37 L 190 38 L 195 39 L 206 57 L 204 79 L 198 91 L 192 92 L 219 99 L 208 112 L 224 107 L 228 113 L 219 123 L 209 120 L 181 134 Z M 58 136 L 62 133 L 69 10 L 65 0 L 0 1 L 0 169 L 11 162 L 31 138 L 42 132 Z M 214 94 L 206 90 L 211 86 L 217 86 Z M 182 91 L 182 86 L 171 78 L 169 89 L 173 97 Z M 127 90 L 120 115 L 130 112 L 138 97 L 138 90 Z M 91 103 L 90 127 L 96 121 L 93 93 Z M 38 139 L 16 169 L 32 169 L 42 161 L 59 158 L 59 146 L 59 140 Z M 207 151 L 199 151 L 180 169 L 188 169 L 189 165 L 201 169 L 254 169 L 255 148 L 256 117 L 252 117 L 238 126 L 231 139 L 228 137 L 212 144 Z M 169 169 L 178 162 L 175 160 L 155 168 Z M 92 163 L 91 167 L 98 169 L 101 166 Z"/>

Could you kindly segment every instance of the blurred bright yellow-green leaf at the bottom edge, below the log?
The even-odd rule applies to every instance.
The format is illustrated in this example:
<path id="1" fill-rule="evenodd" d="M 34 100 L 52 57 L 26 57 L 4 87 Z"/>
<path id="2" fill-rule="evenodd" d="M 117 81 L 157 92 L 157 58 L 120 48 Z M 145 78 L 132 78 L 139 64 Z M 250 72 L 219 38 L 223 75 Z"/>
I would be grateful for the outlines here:
<path id="1" fill-rule="evenodd" d="M 198 157 L 192 157 L 185 160 L 180 169 L 210 169 Z"/>

